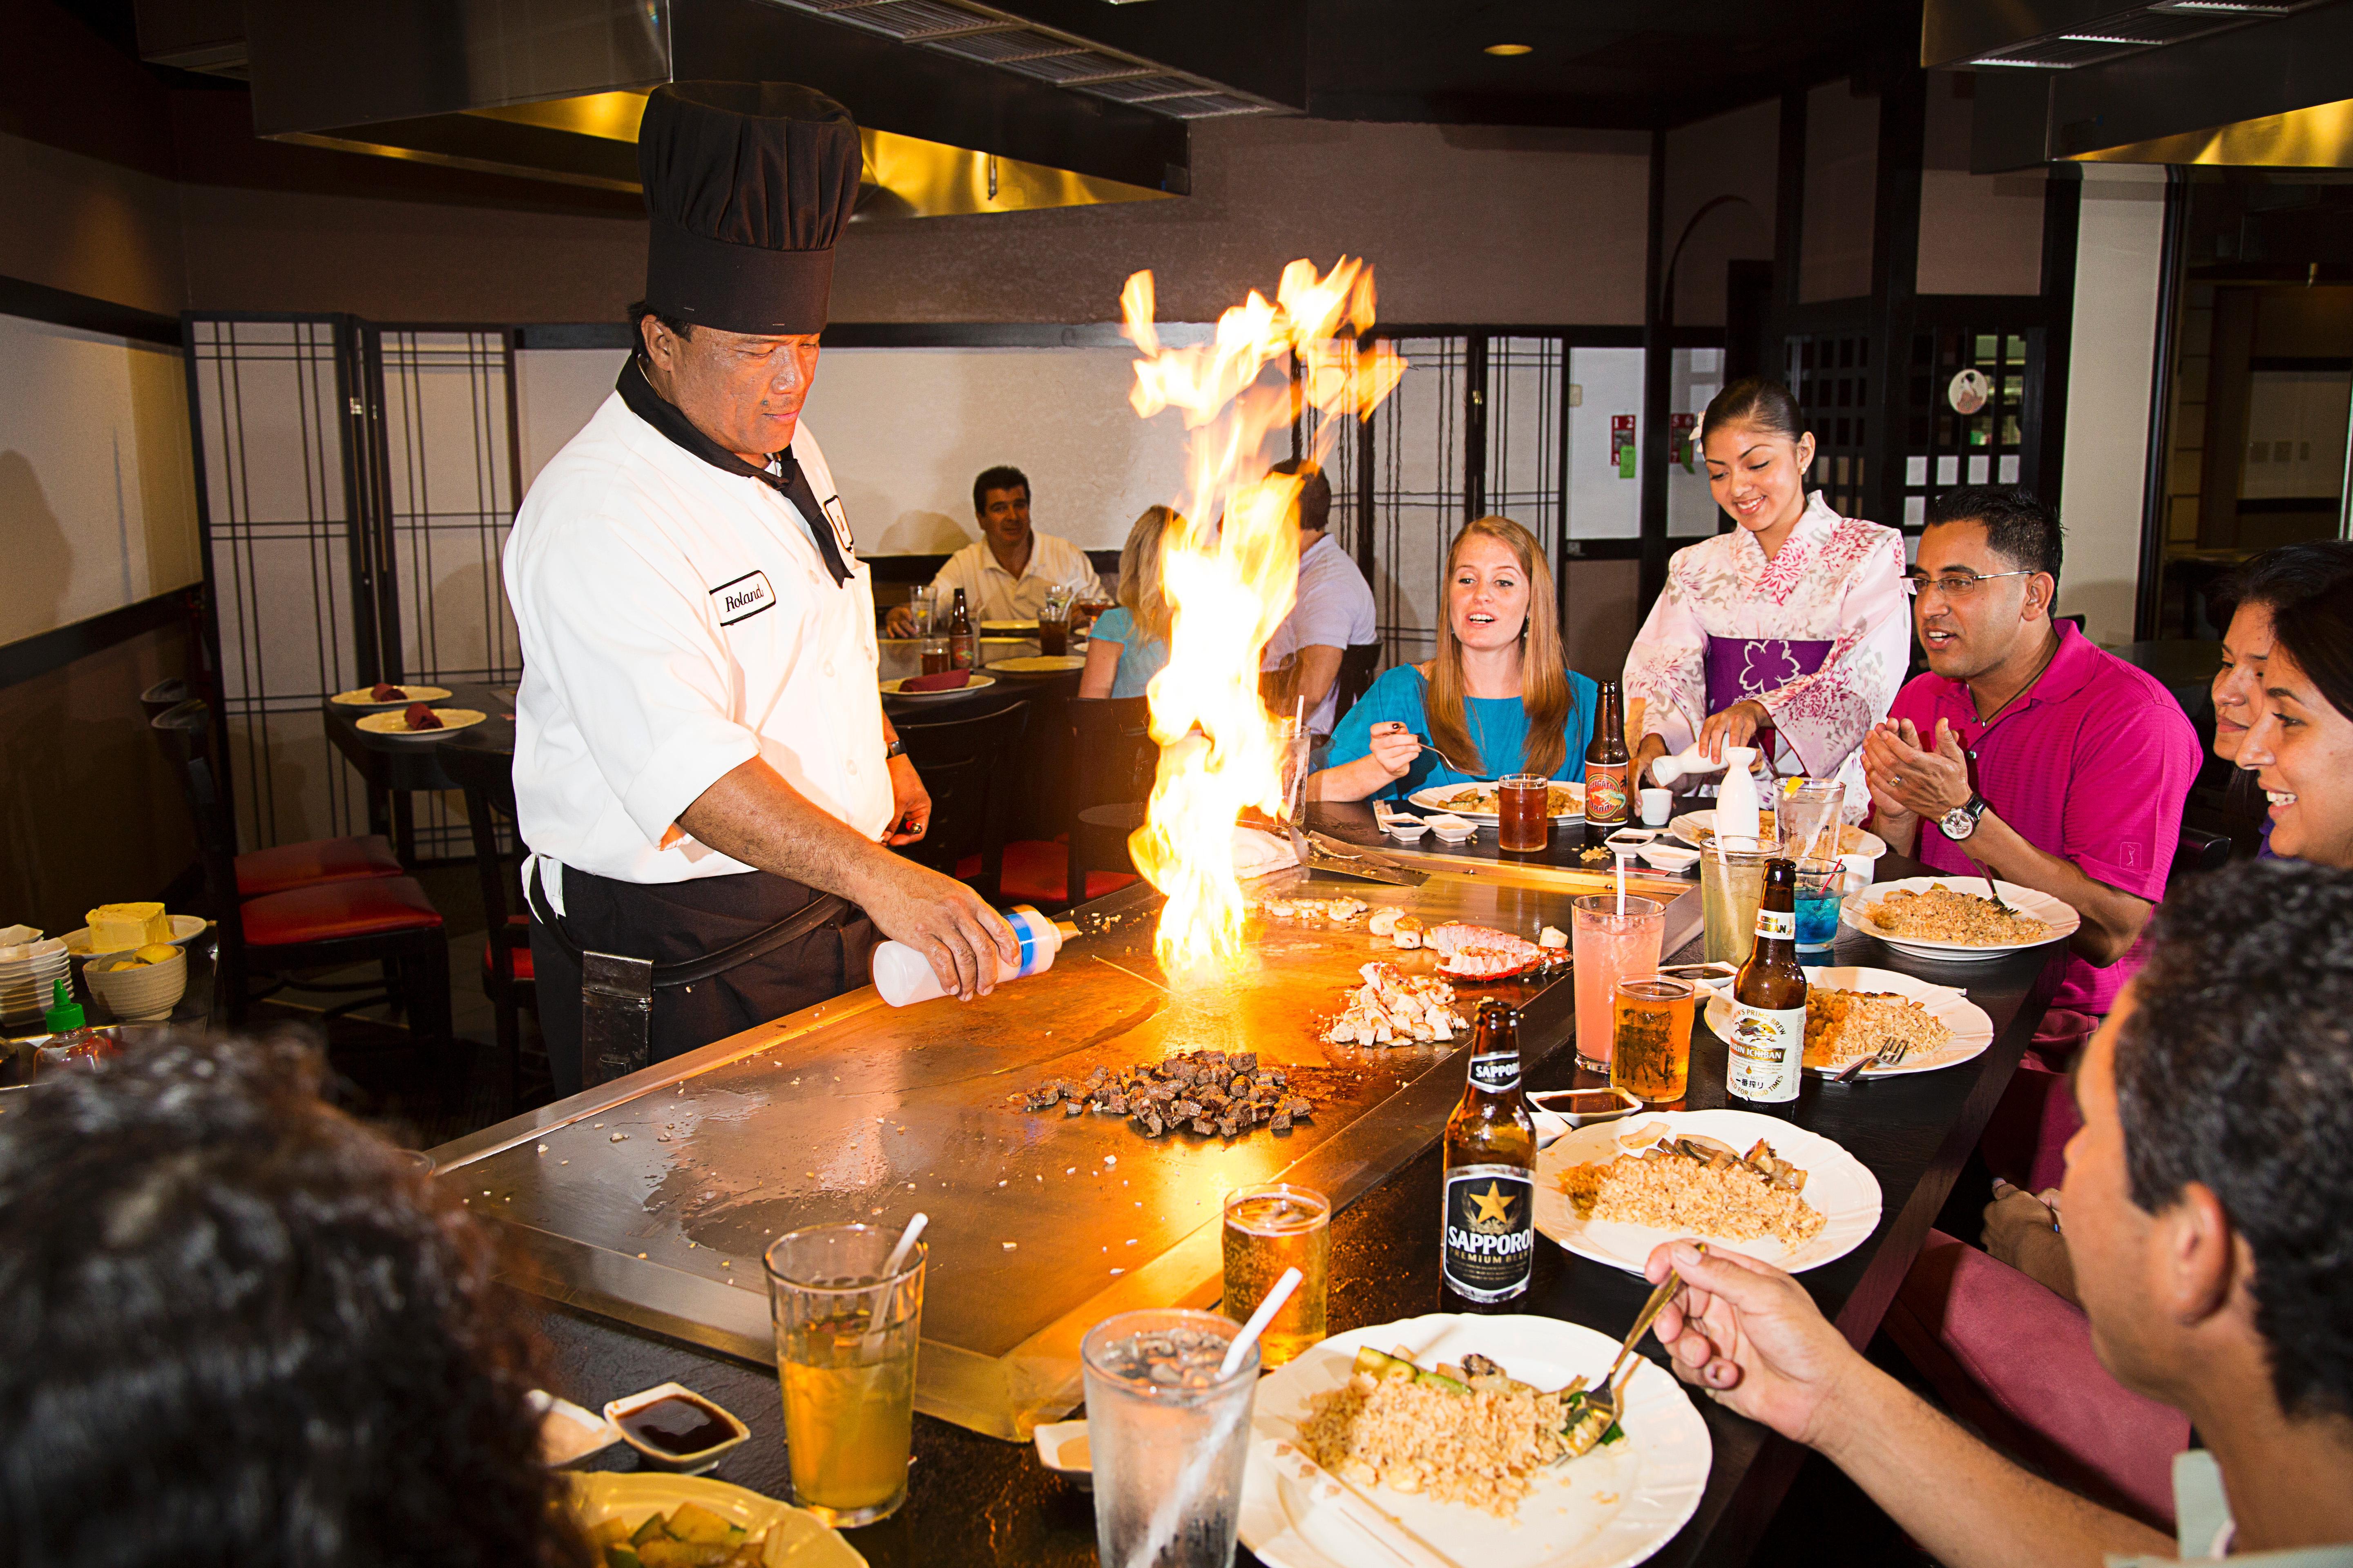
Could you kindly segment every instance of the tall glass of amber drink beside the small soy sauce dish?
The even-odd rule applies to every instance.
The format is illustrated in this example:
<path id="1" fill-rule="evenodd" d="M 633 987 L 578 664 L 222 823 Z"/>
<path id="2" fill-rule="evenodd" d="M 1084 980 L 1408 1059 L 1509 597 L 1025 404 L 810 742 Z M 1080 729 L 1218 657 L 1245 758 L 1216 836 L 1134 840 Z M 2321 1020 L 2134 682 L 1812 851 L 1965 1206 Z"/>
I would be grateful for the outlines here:
<path id="1" fill-rule="evenodd" d="M 812 1225 L 767 1248 L 793 1502 L 831 1526 L 906 1502 L 929 1248 L 918 1241 L 885 1274 L 896 1244 L 873 1225 Z"/>

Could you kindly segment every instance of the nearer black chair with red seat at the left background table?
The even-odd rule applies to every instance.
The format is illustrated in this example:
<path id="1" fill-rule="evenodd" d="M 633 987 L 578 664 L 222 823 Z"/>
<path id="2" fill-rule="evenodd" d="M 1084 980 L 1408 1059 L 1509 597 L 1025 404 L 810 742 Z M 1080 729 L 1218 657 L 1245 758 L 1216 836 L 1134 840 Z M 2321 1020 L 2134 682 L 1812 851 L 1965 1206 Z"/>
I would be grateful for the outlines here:
<path id="1" fill-rule="evenodd" d="M 409 1020 L 409 1034 L 428 1051 L 449 1046 L 449 943 L 440 910 L 412 877 L 355 877 L 318 882 L 280 893 L 238 900 L 233 825 L 219 771 L 212 762 L 212 710 L 202 701 L 179 703 L 153 719 L 181 783 L 195 823 L 205 886 L 219 912 L 212 1013 L 228 1027 L 245 1023 L 259 997 L 247 994 L 247 976 L 275 976 L 261 994 L 280 987 L 315 992 L 369 992 L 325 1011 L 327 1018 L 393 999 Z M 299 980 L 296 976 L 351 964 L 381 964 L 384 990 Z"/>

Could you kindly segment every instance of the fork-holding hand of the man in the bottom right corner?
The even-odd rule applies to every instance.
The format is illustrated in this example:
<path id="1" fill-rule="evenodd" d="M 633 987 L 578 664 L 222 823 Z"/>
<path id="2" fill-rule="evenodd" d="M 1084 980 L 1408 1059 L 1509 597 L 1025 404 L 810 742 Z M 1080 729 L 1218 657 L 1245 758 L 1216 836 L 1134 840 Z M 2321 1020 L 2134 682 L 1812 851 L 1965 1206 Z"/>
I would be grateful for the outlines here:
<path id="1" fill-rule="evenodd" d="M 1682 1288 L 1652 1333 L 1675 1375 L 1781 1436 L 1817 1443 L 1840 1382 L 1866 1361 L 1805 1286 L 1769 1262 L 1699 1251 L 1697 1241 L 1652 1248 L 1642 1272 L 1659 1284 L 1671 1267 Z"/>

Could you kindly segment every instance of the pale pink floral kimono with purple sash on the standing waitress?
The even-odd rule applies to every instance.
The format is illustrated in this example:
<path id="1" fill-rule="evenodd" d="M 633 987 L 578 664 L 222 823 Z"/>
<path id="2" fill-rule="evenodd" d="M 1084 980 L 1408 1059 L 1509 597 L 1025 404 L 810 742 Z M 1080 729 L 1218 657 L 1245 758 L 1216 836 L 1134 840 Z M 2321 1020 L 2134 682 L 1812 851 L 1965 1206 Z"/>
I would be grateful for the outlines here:
<path id="1" fill-rule="evenodd" d="M 1772 715 L 1755 741 L 1772 769 L 1852 773 L 1852 813 L 1866 797 L 1849 762 L 1908 658 L 1904 536 L 1840 517 L 1814 491 L 1769 562 L 1748 529 L 1675 550 L 1626 654 L 1626 701 L 1642 698 L 1642 733 L 1680 752 L 1708 715 L 1753 698 Z"/>

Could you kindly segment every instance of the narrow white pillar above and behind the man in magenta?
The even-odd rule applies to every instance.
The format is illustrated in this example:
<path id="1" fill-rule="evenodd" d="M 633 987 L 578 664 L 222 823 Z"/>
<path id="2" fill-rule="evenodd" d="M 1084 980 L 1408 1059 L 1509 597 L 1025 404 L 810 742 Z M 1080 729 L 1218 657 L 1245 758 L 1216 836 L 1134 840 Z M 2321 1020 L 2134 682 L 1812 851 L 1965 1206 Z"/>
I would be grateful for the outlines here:
<path id="1" fill-rule="evenodd" d="M 2132 642 L 2155 386 L 2165 169 L 2085 165 L 2068 348 L 2059 611 L 2094 642 Z"/>

